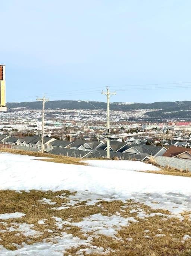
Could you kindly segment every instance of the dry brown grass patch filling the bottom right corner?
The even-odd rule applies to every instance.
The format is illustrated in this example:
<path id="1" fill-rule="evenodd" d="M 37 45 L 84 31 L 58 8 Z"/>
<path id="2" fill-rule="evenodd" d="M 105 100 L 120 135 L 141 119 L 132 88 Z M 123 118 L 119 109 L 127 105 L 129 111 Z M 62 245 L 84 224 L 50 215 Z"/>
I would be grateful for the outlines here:
<path id="1" fill-rule="evenodd" d="M 145 230 L 150 232 L 145 233 Z M 156 234 L 166 236 L 156 237 Z M 154 216 L 131 223 L 129 227 L 121 229 L 117 236 L 122 238 L 122 241 L 101 235 L 94 239 L 93 243 L 99 247 L 108 246 L 115 250 L 107 254 L 109 256 L 188 256 L 191 253 L 191 242 L 187 240 L 182 243 L 185 234 L 191 235 L 190 221 L 180 222 L 174 218 L 164 221 L 160 216 Z M 133 240 L 127 241 L 126 238 Z M 93 255 L 95 256 L 95 254 L 91 256 Z"/>

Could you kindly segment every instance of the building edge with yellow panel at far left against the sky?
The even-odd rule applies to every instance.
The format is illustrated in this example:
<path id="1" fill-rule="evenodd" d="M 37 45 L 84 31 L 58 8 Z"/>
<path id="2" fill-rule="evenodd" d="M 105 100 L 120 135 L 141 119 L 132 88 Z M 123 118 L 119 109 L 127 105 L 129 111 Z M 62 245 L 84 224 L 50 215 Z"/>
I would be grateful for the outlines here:
<path id="1" fill-rule="evenodd" d="M 0 111 L 7 111 L 5 91 L 5 65 L 0 65 Z"/>

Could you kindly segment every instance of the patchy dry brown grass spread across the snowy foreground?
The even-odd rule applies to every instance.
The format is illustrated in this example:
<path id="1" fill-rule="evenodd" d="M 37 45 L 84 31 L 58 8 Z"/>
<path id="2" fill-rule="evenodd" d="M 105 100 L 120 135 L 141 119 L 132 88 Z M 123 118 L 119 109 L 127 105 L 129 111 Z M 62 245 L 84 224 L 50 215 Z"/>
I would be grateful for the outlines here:
<path id="1" fill-rule="evenodd" d="M 63 198 L 57 197 L 64 195 Z M 148 217 L 140 219 L 137 217 L 137 213 L 131 213 L 133 209 L 141 209 L 145 214 L 150 213 L 162 213 L 170 214 L 167 210 L 154 210 L 147 205 L 141 203 L 135 203 L 131 200 L 123 203 L 122 201 L 115 200 L 111 202 L 100 201 L 95 205 L 86 205 L 86 201 L 79 202 L 75 206 L 71 206 L 68 209 L 53 210 L 51 208 L 62 205 L 69 202 L 69 196 L 75 195 L 75 192 L 70 191 L 57 191 L 57 192 L 42 192 L 31 190 L 30 193 L 22 191 L 17 193 L 11 190 L 0 191 L 0 214 L 21 212 L 26 215 L 22 218 L 8 219 L 0 221 L 0 229 L 6 230 L 7 227 L 11 227 L 13 222 L 33 224 L 36 231 L 41 232 L 38 237 L 25 237 L 23 234 L 15 236 L 18 231 L 0 233 L 0 244 L 9 250 L 15 250 L 16 246 L 13 244 L 33 244 L 40 242 L 43 239 L 53 239 L 55 236 L 61 235 L 61 232 L 67 232 L 74 237 L 86 239 L 83 235 L 83 231 L 77 226 L 63 225 L 62 229 L 57 229 L 55 220 L 52 216 L 60 217 L 63 220 L 72 218 L 72 222 L 80 222 L 82 218 L 91 216 L 92 214 L 101 213 L 105 216 L 116 215 L 116 211 L 120 213 L 120 216 L 134 217 L 138 222 L 131 222 L 127 227 L 122 227 L 116 234 L 116 238 L 108 237 L 106 235 L 96 235 L 93 232 L 89 232 L 92 235 L 93 241 L 91 244 L 97 247 L 103 247 L 106 250 L 108 247 L 113 250 L 109 256 L 189 256 L 191 255 L 191 239 L 182 243 L 182 239 L 185 234 L 191 236 L 191 225 L 189 214 L 185 213 L 185 220 L 180 221 L 174 217 L 164 218 L 163 216 Z M 42 198 L 50 199 L 51 202 L 56 202 L 54 205 L 41 204 Z M 77 206 L 77 207 L 76 207 Z M 78 207 L 80 206 L 80 207 Z M 126 208 L 124 208 L 125 206 Z M 47 219 L 45 225 L 38 224 L 41 219 Z M 2 222 L 6 222 L 6 226 Z M 69 229 L 67 229 L 69 228 Z M 51 229 L 53 232 L 48 233 L 45 229 Z M 148 229 L 150 232 L 145 233 Z M 157 229 L 162 229 L 158 231 Z M 156 237 L 156 234 L 165 234 L 165 237 Z M 149 237 L 145 237 L 148 235 Z M 126 240 L 126 238 L 132 238 L 132 241 Z M 51 240 L 50 240 L 51 241 Z M 56 241 L 55 241 L 56 243 Z M 87 246 L 86 246 L 87 247 Z M 84 246 L 78 248 L 71 248 L 68 250 L 68 255 L 76 255 L 79 249 L 85 249 Z M 67 255 L 67 254 L 66 254 Z M 84 253 L 85 255 L 85 253 Z M 95 256 L 99 254 L 91 254 Z"/>

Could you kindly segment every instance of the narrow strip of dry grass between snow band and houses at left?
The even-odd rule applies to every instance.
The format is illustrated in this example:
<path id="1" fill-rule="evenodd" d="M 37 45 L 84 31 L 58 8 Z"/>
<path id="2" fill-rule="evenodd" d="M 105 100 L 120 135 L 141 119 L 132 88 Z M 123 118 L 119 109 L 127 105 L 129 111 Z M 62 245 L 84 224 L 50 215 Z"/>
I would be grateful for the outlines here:
<path id="1" fill-rule="evenodd" d="M 38 153 L 38 152 L 25 151 L 25 150 L 15 150 L 10 148 L 0 148 L 0 152 L 7 152 L 7 153 L 25 155 L 25 156 L 49 157 L 48 159 L 40 159 L 41 161 L 46 161 L 46 162 L 68 163 L 72 165 L 87 165 L 86 163 L 81 162 L 80 161 L 81 159 L 74 158 L 74 157 L 58 156 L 53 154 Z"/>

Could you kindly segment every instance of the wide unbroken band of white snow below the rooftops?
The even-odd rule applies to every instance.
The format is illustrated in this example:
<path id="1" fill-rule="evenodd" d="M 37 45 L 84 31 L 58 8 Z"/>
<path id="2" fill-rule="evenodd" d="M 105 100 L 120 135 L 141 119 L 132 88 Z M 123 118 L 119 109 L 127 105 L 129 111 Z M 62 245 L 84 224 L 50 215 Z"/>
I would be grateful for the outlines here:
<path id="1" fill-rule="evenodd" d="M 37 159 L 1 153 L 0 189 L 88 191 L 90 197 L 94 194 L 122 200 L 131 198 L 148 205 L 157 200 L 157 207 L 165 207 L 173 212 L 181 212 L 186 207 L 183 206 L 184 202 L 179 205 L 176 194 L 182 194 L 185 198 L 191 195 L 190 178 L 137 172 L 159 170 L 138 161 L 87 160 L 85 162 L 90 166 L 82 166 Z M 171 193 L 170 197 L 168 193 Z M 145 196 L 148 194 L 151 195 L 149 198 Z M 176 203 L 178 209 L 173 208 Z"/>

